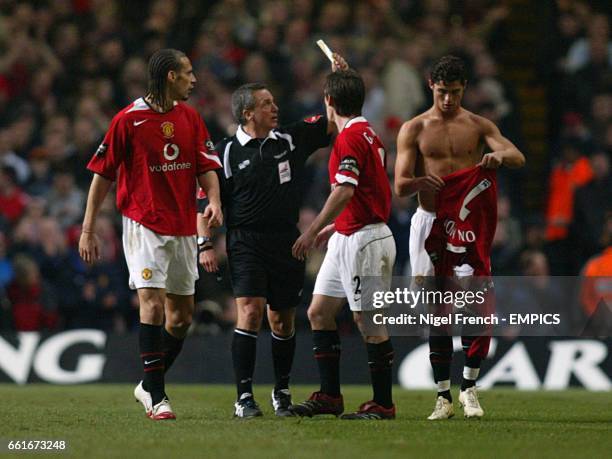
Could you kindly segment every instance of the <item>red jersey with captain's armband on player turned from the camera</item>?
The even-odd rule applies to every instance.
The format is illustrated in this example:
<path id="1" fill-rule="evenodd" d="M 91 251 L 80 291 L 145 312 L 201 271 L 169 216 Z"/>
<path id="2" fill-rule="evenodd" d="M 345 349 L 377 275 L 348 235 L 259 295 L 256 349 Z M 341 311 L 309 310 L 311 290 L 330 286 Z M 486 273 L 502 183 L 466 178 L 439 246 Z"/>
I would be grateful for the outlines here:
<path id="1" fill-rule="evenodd" d="M 386 153 L 370 123 L 353 118 L 340 132 L 329 158 L 332 188 L 350 183 L 355 194 L 336 218 L 336 231 L 349 235 L 372 223 L 387 223 L 391 213 L 391 186 Z"/>

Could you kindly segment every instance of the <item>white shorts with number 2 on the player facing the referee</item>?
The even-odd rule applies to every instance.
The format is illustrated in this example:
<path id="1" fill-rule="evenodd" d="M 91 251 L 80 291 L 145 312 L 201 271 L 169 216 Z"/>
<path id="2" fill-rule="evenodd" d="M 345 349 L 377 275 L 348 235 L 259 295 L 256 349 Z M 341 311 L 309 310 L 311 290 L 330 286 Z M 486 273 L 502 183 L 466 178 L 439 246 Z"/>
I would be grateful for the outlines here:
<path id="1" fill-rule="evenodd" d="M 336 232 L 327 244 L 313 294 L 346 298 L 351 311 L 372 311 L 371 302 L 361 301 L 362 293 L 371 298 L 364 289 L 389 290 L 394 263 L 395 240 L 384 223 L 364 226 L 350 236 Z"/>

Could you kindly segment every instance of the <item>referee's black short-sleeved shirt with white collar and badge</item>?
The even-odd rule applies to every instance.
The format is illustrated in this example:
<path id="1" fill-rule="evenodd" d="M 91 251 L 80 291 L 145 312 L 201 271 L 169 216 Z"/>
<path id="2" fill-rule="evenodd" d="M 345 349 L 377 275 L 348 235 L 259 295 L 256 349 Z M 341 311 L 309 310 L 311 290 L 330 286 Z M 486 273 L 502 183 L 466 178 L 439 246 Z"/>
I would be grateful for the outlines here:
<path id="1" fill-rule="evenodd" d="M 215 150 L 225 225 L 260 232 L 290 231 L 297 225 L 304 194 L 304 164 L 329 145 L 327 118 L 308 118 L 273 129 L 265 139 L 236 134 Z"/>

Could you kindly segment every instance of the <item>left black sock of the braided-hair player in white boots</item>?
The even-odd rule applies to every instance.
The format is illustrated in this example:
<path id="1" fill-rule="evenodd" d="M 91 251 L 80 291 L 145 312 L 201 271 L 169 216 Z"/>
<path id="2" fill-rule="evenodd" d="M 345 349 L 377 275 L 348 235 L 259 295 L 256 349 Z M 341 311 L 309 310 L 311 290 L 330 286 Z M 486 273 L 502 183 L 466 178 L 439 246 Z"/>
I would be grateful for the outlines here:
<path id="1" fill-rule="evenodd" d="M 166 397 L 164 386 L 164 348 L 162 325 L 140 324 L 140 358 L 144 368 L 143 388 L 151 393 L 153 405 Z"/>

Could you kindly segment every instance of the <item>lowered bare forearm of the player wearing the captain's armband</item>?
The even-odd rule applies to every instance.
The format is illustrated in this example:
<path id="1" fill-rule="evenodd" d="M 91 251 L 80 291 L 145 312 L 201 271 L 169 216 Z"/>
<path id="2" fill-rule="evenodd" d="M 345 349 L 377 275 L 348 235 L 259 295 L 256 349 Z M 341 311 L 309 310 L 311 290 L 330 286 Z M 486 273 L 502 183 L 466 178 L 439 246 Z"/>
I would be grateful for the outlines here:
<path id="1" fill-rule="evenodd" d="M 303 260 L 307 252 L 313 247 L 319 232 L 328 227 L 338 215 L 344 210 L 351 198 L 355 194 L 355 187 L 349 183 L 338 184 L 331 192 L 323 210 L 317 215 L 308 229 L 304 231 L 291 249 L 293 256 L 298 260 Z"/>

